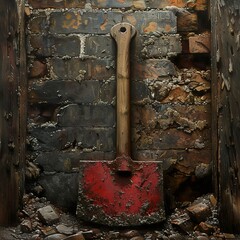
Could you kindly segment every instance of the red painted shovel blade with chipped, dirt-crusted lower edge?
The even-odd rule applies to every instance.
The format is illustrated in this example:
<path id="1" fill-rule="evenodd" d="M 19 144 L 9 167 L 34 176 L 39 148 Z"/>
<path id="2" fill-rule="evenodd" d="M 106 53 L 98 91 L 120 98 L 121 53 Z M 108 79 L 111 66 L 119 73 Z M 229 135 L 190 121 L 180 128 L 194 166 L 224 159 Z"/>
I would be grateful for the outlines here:
<path id="1" fill-rule="evenodd" d="M 161 162 L 81 162 L 77 215 L 110 226 L 153 224 L 165 219 Z"/>

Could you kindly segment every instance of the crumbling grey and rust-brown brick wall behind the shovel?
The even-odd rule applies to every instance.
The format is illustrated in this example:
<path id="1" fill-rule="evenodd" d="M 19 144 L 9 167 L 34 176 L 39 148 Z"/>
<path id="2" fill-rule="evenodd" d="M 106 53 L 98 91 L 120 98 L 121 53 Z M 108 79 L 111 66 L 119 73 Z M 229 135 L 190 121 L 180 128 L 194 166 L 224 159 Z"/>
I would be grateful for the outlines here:
<path id="1" fill-rule="evenodd" d="M 163 161 L 169 207 L 203 193 L 211 161 L 206 0 L 28 0 L 26 14 L 28 161 L 41 169 L 31 187 L 71 208 L 79 160 L 115 158 L 109 33 L 123 21 L 138 32 L 131 47 L 133 159 Z"/>

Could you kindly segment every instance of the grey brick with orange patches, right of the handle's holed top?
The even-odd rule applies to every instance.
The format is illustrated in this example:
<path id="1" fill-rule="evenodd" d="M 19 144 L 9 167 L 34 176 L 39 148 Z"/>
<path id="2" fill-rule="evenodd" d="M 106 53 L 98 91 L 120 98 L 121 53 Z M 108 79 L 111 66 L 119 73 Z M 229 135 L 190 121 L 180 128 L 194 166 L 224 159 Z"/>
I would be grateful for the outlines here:
<path id="1" fill-rule="evenodd" d="M 139 11 L 126 13 L 124 22 L 129 22 L 141 33 L 163 32 L 176 33 L 176 16 L 169 11 Z"/>

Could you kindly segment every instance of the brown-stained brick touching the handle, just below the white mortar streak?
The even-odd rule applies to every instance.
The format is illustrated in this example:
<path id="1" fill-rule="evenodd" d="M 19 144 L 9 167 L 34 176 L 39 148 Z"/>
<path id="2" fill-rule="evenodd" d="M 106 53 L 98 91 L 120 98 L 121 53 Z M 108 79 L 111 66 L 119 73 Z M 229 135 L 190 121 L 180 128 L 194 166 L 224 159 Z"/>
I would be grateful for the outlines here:
<path id="1" fill-rule="evenodd" d="M 115 74 L 109 59 L 53 58 L 50 65 L 52 79 L 107 80 Z"/>

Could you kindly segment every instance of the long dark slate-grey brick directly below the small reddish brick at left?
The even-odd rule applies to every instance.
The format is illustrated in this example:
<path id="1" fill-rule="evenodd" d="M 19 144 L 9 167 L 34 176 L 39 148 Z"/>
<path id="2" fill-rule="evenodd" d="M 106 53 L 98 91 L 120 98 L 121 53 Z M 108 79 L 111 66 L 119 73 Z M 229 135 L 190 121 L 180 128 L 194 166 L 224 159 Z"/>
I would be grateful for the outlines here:
<path id="1" fill-rule="evenodd" d="M 99 82 L 92 80 L 33 82 L 29 88 L 28 97 L 32 103 L 92 103 L 99 98 Z"/>

